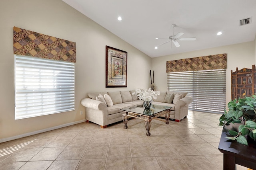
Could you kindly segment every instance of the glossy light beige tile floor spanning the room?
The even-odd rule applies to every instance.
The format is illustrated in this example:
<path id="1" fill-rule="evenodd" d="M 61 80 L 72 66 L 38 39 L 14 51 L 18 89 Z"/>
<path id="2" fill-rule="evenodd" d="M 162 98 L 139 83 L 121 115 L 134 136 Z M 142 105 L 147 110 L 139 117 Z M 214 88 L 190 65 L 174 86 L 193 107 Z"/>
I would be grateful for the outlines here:
<path id="1" fill-rule="evenodd" d="M 189 111 L 179 123 L 154 119 L 150 137 L 140 119 L 128 129 L 80 123 L 0 143 L 0 170 L 222 170 L 219 117 Z"/>

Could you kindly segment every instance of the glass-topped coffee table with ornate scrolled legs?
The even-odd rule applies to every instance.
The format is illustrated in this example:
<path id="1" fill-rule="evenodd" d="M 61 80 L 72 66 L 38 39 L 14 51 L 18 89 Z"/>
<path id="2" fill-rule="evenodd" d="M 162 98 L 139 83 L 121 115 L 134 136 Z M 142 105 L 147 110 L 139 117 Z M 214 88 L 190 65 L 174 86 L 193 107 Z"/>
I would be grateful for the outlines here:
<path id="1" fill-rule="evenodd" d="M 150 136 L 150 127 L 151 127 L 151 120 L 159 117 L 160 115 L 165 115 L 166 124 L 169 124 L 170 118 L 170 111 L 172 107 L 168 106 L 161 106 L 161 105 L 151 105 L 150 109 L 144 109 L 143 105 L 132 106 L 132 107 L 125 107 L 120 109 L 123 112 L 123 121 L 124 121 L 124 128 L 127 129 L 127 122 L 129 117 L 134 117 L 138 119 L 143 119 L 145 121 L 146 127 L 146 135 Z"/>

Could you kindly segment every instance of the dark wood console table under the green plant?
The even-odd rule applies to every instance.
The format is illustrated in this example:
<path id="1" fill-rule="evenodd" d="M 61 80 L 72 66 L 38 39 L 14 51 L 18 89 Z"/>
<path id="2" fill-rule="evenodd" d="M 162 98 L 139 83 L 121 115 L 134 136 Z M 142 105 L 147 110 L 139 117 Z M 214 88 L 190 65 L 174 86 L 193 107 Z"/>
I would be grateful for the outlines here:
<path id="1" fill-rule="evenodd" d="M 228 129 L 222 130 L 218 149 L 223 155 L 223 169 L 236 170 L 236 164 L 256 170 L 256 142 L 248 142 L 249 146 L 227 139 L 231 137 Z"/>

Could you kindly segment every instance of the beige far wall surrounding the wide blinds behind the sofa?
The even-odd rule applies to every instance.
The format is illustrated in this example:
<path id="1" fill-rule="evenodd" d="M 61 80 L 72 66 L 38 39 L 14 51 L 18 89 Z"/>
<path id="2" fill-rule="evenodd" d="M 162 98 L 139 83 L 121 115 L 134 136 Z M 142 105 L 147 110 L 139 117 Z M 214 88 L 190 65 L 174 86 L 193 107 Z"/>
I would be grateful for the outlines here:
<path id="1" fill-rule="evenodd" d="M 187 59 L 207 55 L 216 55 L 227 53 L 227 71 L 226 71 L 226 104 L 231 100 L 231 71 L 242 68 L 252 68 L 255 63 L 255 43 L 254 41 L 227 45 L 205 50 L 192 51 L 189 53 L 180 53 L 157 57 L 152 59 L 152 70 L 155 70 L 155 84 L 158 90 L 167 90 L 166 61 Z M 165 66 L 164 66 L 165 65 Z"/>

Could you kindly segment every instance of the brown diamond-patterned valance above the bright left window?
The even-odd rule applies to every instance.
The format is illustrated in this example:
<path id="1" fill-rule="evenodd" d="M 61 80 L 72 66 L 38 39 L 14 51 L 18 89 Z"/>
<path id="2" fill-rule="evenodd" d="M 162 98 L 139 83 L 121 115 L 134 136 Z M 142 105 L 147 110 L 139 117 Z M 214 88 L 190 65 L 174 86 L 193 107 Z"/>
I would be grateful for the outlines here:
<path id="1" fill-rule="evenodd" d="M 13 27 L 13 52 L 43 59 L 76 63 L 76 43 Z"/>

